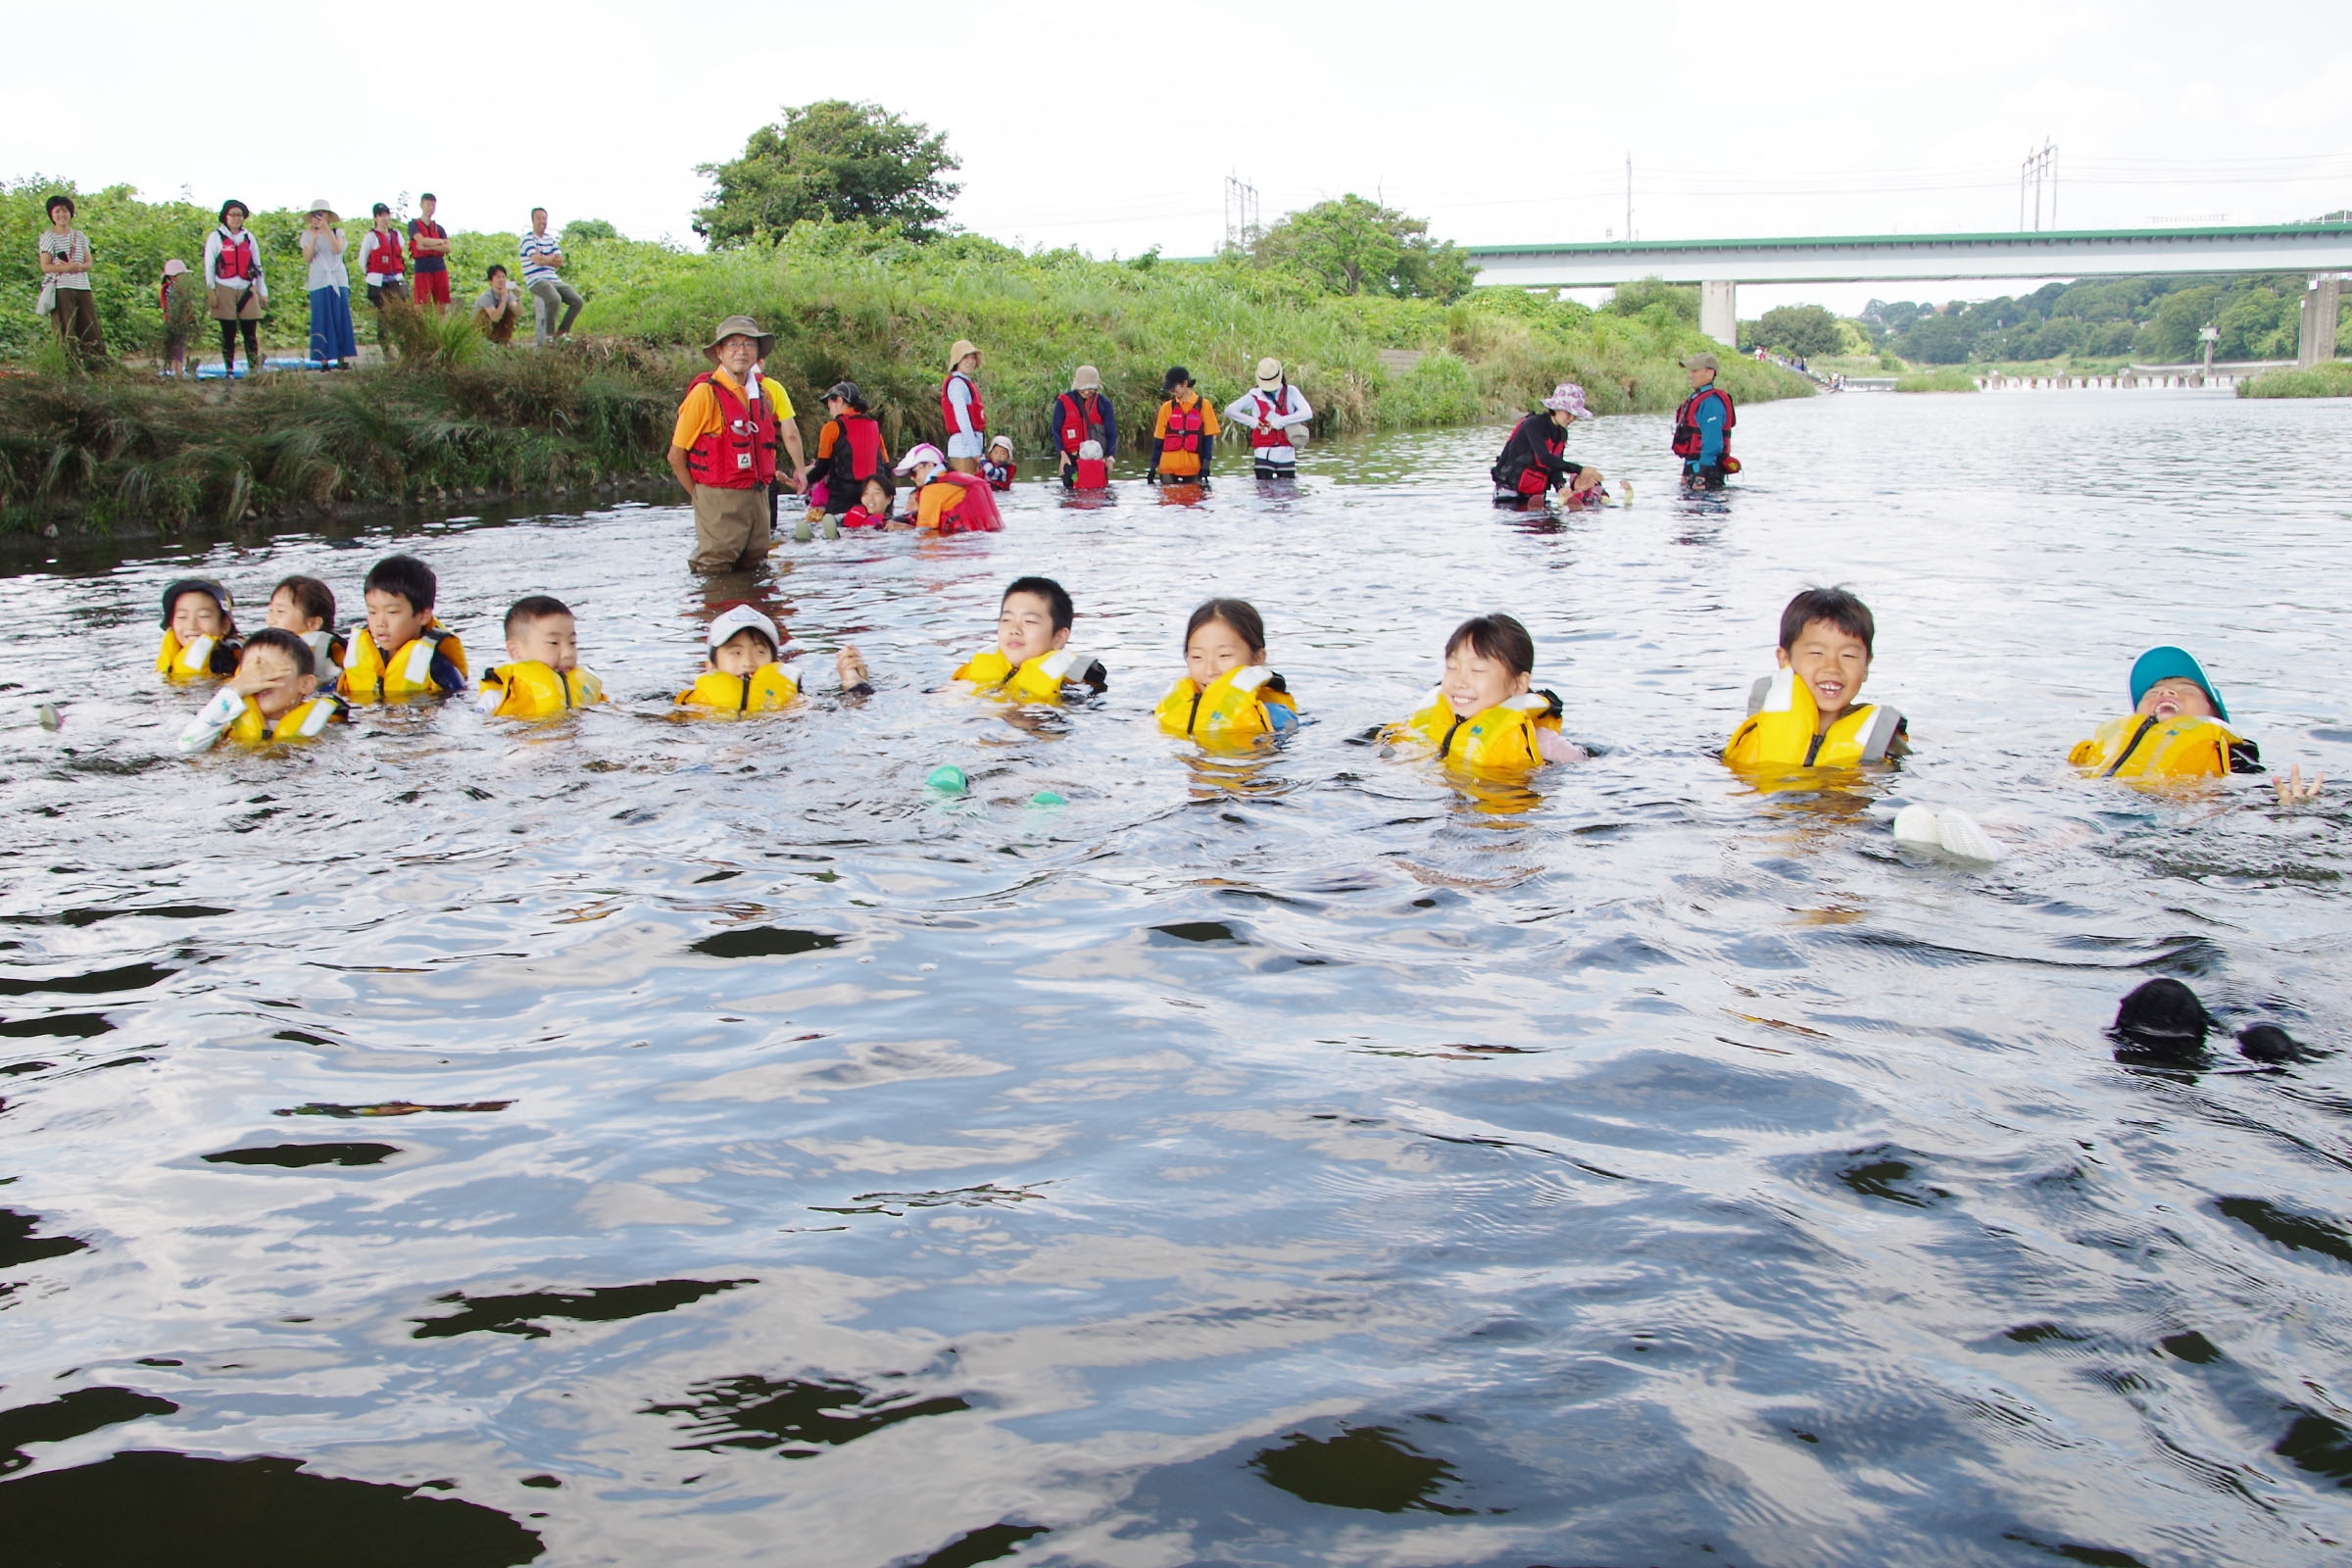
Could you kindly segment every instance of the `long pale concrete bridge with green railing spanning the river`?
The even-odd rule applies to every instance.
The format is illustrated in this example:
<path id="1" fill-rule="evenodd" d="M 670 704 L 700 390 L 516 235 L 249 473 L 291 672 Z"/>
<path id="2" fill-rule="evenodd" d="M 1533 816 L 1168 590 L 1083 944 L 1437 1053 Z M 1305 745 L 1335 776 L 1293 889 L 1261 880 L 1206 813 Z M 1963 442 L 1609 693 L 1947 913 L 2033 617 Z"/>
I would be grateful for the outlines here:
<path id="1" fill-rule="evenodd" d="M 2317 364 L 2336 357 L 2336 273 L 2352 270 L 2352 223 L 1470 244 L 1465 252 L 1479 268 L 1482 287 L 1602 289 L 1642 277 L 1696 282 L 1698 327 L 1717 343 L 1738 341 L 1743 282 L 2307 273 L 2312 284 L 2303 296 L 2298 360 Z"/>

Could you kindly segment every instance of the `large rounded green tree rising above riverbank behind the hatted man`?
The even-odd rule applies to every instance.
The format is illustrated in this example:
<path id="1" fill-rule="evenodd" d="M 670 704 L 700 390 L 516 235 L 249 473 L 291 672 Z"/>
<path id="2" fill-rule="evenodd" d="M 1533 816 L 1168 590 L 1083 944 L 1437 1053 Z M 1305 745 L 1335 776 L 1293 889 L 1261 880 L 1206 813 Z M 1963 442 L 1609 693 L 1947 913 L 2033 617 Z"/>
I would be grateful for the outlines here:
<path id="1" fill-rule="evenodd" d="M 929 240 L 962 190 L 943 176 L 960 167 L 943 132 L 880 103 L 804 103 L 755 129 L 741 158 L 694 167 L 710 181 L 694 233 L 727 247 L 781 237 L 800 221 L 835 221 Z"/>

